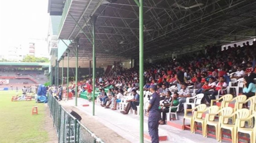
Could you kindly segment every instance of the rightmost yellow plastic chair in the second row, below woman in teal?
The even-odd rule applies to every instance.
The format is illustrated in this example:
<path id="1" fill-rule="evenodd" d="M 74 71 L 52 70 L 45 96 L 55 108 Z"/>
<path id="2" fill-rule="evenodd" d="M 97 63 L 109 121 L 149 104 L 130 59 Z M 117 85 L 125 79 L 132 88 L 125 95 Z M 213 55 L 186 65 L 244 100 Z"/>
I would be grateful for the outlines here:
<path id="1" fill-rule="evenodd" d="M 249 111 L 250 114 L 253 114 L 253 112 L 256 112 L 256 96 L 252 96 L 250 98 L 248 98 L 247 100 L 245 100 L 244 102 L 238 102 L 237 106 L 239 108 L 243 107 L 243 104 L 250 102 L 250 107 L 249 107 Z M 252 126 L 252 120 L 248 121 L 248 126 L 251 127 Z"/>

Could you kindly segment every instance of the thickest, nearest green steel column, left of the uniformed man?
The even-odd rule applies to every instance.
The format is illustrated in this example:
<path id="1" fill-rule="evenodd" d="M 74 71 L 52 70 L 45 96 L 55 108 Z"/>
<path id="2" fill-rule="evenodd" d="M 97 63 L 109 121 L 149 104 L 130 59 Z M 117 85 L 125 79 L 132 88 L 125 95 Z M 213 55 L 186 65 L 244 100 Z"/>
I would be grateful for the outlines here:
<path id="1" fill-rule="evenodd" d="M 139 32 L 140 32 L 140 143 L 144 142 L 144 119 L 143 119 L 143 84 L 144 84 L 144 76 L 143 76 L 143 70 L 144 70 L 144 63 L 143 63 L 143 56 L 144 56 L 144 35 L 143 35 L 143 0 L 139 0 L 140 6 L 139 6 Z"/>

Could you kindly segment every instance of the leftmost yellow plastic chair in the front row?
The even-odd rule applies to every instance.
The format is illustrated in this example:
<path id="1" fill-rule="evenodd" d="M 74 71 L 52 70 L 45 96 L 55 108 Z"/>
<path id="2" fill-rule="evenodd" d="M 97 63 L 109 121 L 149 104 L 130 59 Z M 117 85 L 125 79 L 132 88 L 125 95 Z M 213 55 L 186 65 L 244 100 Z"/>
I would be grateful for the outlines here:
<path id="1" fill-rule="evenodd" d="M 194 114 L 192 115 L 187 115 L 188 112 L 193 112 L 193 111 L 204 111 L 206 109 L 206 104 L 200 104 L 198 106 L 196 106 L 195 108 L 193 109 L 186 109 L 185 110 L 185 113 L 184 113 L 184 118 L 183 118 L 183 127 L 185 126 L 185 119 L 188 119 L 190 121 L 190 131 L 191 133 L 194 132 L 194 126 L 193 126 L 193 123 L 194 123 Z M 197 118 L 202 118 L 203 114 L 202 113 L 198 113 L 197 115 Z M 184 130 L 184 128 L 183 128 Z"/>

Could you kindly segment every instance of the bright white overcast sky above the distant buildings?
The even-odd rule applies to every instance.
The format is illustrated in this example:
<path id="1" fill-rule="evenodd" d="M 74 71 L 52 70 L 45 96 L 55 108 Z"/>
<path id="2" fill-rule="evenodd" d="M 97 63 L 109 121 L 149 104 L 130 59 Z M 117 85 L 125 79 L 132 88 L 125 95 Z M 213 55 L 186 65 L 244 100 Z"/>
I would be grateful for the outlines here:
<path id="1" fill-rule="evenodd" d="M 0 1 L 0 54 L 9 47 L 28 52 L 28 43 L 35 42 L 35 56 L 48 55 L 48 0 Z"/>

